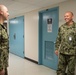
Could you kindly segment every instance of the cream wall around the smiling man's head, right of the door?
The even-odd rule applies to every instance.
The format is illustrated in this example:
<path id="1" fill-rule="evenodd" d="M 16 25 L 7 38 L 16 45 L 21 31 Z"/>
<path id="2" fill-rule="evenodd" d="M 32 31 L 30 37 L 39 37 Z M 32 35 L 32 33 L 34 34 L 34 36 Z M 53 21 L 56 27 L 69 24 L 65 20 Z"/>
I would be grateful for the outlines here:
<path id="1" fill-rule="evenodd" d="M 67 11 L 72 11 L 74 13 L 74 21 L 76 21 L 76 0 L 69 0 L 67 2 L 59 4 L 59 24 L 63 24 L 64 21 L 64 13 Z"/>

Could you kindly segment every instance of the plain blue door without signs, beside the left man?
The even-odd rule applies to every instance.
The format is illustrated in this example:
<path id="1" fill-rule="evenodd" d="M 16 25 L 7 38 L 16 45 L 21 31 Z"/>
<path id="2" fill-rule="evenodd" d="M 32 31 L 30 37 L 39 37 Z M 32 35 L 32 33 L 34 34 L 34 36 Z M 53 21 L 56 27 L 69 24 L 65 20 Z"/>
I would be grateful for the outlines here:
<path id="1" fill-rule="evenodd" d="M 24 16 L 9 20 L 10 52 L 24 57 Z"/>

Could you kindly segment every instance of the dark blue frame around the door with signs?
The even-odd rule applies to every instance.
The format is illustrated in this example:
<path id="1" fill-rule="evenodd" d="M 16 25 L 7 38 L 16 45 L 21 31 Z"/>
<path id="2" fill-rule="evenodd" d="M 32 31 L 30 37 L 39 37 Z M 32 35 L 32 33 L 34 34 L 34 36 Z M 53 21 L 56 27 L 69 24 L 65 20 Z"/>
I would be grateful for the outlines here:
<path id="1" fill-rule="evenodd" d="M 50 8 L 50 9 L 46 9 L 46 10 L 42 10 L 39 12 L 39 27 L 38 27 L 38 64 L 43 64 L 42 60 L 43 60 L 43 51 L 42 51 L 42 14 L 46 13 L 47 11 L 51 12 L 53 10 L 57 10 L 57 14 L 58 14 L 58 18 L 59 18 L 59 7 L 54 7 L 54 8 Z M 58 22 L 59 23 L 59 22 Z"/>

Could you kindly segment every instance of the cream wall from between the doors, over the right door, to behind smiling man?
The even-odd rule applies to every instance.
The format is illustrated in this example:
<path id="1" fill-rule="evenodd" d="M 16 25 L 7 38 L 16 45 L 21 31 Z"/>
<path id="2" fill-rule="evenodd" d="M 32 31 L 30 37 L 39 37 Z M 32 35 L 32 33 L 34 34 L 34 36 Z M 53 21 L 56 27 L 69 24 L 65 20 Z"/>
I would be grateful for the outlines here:
<path id="1" fill-rule="evenodd" d="M 59 6 L 59 26 L 63 24 L 64 13 L 72 11 L 74 13 L 74 21 L 76 21 L 76 0 L 68 0 L 66 2 L 53 6 L 41 8 L 36 11 L 25 13 L 25 56 L 38 61 L 38 12 L 48 8 Z"/>

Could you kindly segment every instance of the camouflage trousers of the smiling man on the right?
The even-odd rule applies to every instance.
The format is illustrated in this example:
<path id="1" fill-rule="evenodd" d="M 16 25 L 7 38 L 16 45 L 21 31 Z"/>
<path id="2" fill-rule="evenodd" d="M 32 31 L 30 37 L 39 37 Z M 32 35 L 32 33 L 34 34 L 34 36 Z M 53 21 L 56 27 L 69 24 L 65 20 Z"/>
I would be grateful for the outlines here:
<path id="1" fill-rule="evenodd" d="M 57 75 L 75 75 L 76 55 L 59 55 Z"/>

